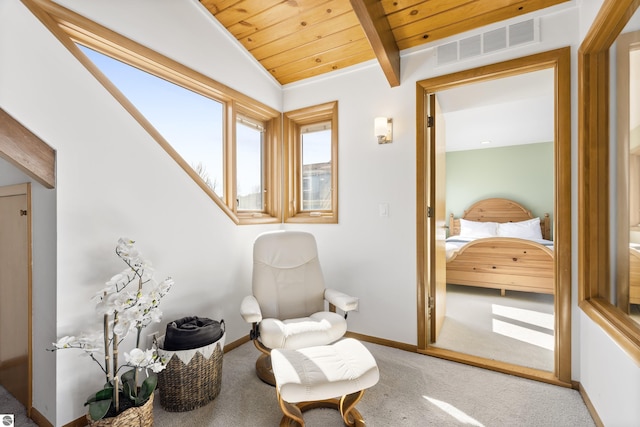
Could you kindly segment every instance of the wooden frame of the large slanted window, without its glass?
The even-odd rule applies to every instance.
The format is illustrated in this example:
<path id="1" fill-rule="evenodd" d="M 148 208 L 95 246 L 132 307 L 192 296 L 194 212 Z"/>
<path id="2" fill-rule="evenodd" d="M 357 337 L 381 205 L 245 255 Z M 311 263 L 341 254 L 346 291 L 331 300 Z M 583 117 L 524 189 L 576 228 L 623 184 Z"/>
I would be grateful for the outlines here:
<path id="1" fill-rule="evenodd" d="M 282 221 L 281 139 L 282 114 L 238 91 L 159 54 L 131 39 L 103 27 L 63 6 L 43 0 L 23 0 L 58 40 L 82 63 L 114 98 L 136 119 L 158 144 L 182 167 L 196 184 L 236 224 L 265 224 Z M 111 83 L 93 62 L 76 46 L 82 44 L 118 61 L 139 68 L 171 83 L 216 100 L 224 110 L 224 196 L 220 198 L 193 170 L 171 144 L 149 123 L 135 106 Z M 239 211 L 236 204 L 235 122 L 241 113 L 265 124 L 264 195 L 262 212 Z"/>

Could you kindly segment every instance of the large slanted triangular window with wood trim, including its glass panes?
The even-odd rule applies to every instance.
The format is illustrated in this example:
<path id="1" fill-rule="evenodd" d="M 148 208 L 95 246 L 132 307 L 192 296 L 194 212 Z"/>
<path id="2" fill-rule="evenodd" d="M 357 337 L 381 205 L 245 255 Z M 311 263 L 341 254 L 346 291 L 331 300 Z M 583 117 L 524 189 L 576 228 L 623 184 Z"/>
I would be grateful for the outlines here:
<path id="1" fill-rule="evenodd" d="M 39 5 L 43 22 L 57 24 L 49 29 L 234 222 L 282 221 L 280 112 L 62 6 Z"/>

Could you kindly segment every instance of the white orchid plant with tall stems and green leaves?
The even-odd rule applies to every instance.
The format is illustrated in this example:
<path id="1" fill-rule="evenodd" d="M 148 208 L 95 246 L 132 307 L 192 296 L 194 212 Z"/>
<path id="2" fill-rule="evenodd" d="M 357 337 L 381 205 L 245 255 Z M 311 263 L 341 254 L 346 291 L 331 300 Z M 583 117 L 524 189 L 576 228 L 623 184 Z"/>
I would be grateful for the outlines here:
<path id="1" fill-rule="evenodd" d="M 165 368 L 155 348 L 141 349 L 140 339 L 144 327 L 160 322 L 162 312 L 158 305 L 173 285 L 167 278 L 157 283 L 153 279 L 151 263 L 144 259 L 134 241 L 121 238 L 116 255 L 127 268 L 113 276 L 93 298 L 96 311 L 102 315 L 102 331 L 79 336 L 65 336 L 53 343 L 53 349 L 76 348 L 84 350 L 104 372 L 106 383 L 102 390 L 91 394 L 85 405 L 94 421 L 104 418 L 112 408 L 114 415 L 131 406 L 144 405 L 156 388 L 157 373 Z M 124 353 L 125 363 L 120 365 L 120 344 L 130 332 L 136 333 L 136 347 Z M 104 362 L 100 359 L 104 357 Z M 123 373 L 122 369 L 131 368 Z M 144 372 L 143 372 L 144 371 Z M 151 372 L 149 372 L 151 371 Z M 145 378 L 140 382 L 139 376 Z M 120 402 L 120 395 L 129 402 Z"/>

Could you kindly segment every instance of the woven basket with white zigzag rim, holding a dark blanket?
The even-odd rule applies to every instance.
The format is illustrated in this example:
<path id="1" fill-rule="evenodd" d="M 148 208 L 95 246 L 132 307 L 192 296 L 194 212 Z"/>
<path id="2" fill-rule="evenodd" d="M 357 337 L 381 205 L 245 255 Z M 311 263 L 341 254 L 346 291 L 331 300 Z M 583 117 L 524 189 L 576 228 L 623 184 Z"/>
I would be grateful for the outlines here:
<path id="1" fill-rule="evenodd" d="M 220 394 L 225 336 L 205 347 L 180 351 L 163 350 L 160 338 L 158 353 L 169 360 L 167 367 L 158 373 L 160 405 L 165 410 L 191 411 Z"/>

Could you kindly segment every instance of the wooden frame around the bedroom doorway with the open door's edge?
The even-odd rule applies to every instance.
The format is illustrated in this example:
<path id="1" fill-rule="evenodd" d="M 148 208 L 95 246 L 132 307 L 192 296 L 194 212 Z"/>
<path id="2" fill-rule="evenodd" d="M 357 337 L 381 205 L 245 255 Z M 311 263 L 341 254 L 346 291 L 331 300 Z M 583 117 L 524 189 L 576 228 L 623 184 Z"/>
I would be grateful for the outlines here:
<path id="1" fill-rule="evenodd" d="M 515 375 L 568 386 L 571 382 L 571 221 L 570 206 L 570 50 L 558 49 L 473 70 L 436 77 L 417 83 L 417 247 L 418 247 L 418 350 L 425 354 L 482 366 Z M 446 286 L 441 266 L 446 227 L 441 204 L 443 166 L 438 163 L 443 148 L 437 135 L 433 95 L 471 83 L 488 82 L 533 71 L 554 73 L 554 369 L 553 372 L 496 361 L 434 345 L 438 323 L 446 310 L 442 286 Z M 430 119 L 429 117 L 432 117 Z M 430 126 L 433 123 L 434 126 Z M 442 160 L 440 160 L 441 162 Z M 565 227 L 558 227 L 565 224 Z"/>

